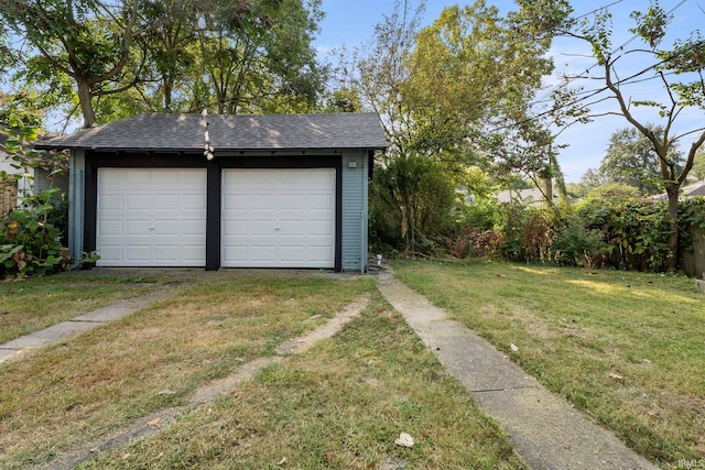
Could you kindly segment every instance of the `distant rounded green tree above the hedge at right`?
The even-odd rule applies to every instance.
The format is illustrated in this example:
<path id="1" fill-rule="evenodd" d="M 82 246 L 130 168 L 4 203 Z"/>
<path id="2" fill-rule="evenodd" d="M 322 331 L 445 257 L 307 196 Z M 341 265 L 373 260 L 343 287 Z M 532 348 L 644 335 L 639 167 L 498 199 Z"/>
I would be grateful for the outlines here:
<path id="1" fill-rule="evenodd" d="M 652 132 L 663 135 L 662 127 L 647 124 Z M 682 166 L 682 156 L 674 143 L 669 159 Z M 599 174 L 604 182 L 633 186 L 642 195 L 660 193 L 661 168 L 659 159 L 649 139 L 636 128 L 625 128 L 612 132 L 607 154 L 603 157 Z"/>

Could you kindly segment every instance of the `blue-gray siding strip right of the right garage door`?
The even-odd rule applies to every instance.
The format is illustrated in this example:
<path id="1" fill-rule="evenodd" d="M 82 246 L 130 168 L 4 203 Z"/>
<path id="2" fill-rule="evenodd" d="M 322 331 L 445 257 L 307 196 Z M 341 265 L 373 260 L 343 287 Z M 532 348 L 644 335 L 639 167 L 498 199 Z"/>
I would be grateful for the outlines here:
<path id="1" fill-rule="evenodd" d="M 355 162 L 356 167 L 350 167 Z M 367 270 L 367 157 L 343 154 L 343 270 Z"/>

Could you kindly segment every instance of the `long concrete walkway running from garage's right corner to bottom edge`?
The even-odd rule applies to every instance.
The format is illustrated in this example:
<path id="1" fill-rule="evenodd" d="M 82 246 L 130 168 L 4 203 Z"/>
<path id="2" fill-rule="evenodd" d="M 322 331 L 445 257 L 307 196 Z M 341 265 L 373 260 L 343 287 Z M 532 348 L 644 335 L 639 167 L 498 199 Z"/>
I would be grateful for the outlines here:
<path id="1" fill-rule="evenodd" d="M 658 469 L 610 431 L 544 389 L 492 345 L 451 320 L 393 277 L 378 287 L 451 374 L 499 422 L 517 453 L 536 470 Z"/>

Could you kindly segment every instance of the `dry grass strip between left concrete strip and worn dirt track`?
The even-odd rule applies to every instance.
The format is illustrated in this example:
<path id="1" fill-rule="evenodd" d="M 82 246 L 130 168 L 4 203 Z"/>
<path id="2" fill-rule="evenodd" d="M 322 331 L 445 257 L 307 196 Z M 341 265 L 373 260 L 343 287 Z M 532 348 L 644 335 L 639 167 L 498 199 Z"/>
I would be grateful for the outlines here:
<path id="1" fill-rule="evenodd" d="M 369 281 L 204 277 L 172 299 L 0 368 L 0 467 L 48 462 L 313 329 Z M 313 317 L 313 318 L 312 318 Z"/>

